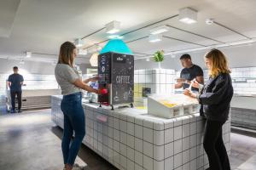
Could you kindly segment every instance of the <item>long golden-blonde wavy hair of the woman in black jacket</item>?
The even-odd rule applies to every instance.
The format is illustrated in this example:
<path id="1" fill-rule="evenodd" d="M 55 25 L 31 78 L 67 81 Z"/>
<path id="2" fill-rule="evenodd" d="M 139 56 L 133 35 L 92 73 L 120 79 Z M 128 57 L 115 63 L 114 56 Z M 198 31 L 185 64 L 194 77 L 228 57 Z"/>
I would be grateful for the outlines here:
<path id="1" fill-rule="evenodd" d="M 220 73 L 230 73 L 226 56 L 218 49 L 213 48 L 205 55 L 205 58 L 212 60 L 212 69 L 209 71 L 210 77 L 217 77 Z"/>

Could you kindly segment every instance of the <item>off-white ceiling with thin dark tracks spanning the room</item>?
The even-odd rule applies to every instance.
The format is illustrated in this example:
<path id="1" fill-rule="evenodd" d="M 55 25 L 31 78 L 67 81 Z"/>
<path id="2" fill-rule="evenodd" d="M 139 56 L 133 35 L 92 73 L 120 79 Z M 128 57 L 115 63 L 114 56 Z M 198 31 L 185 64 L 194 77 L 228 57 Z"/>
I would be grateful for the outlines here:
<path id="1" fill-rule="evenodd" d="M 186 25 L 174 17 L 148 26 L 177 15 L 178 9 L 184 7 L 198 11 L 196 24 Z M 208 26 L 205 20 L 213 18 L 247 37 L 256 37 L 255 7 L 255 0 L 0 0 L 0 57 L 20 59 L 26 51 L 31 51 L 31 59 L 34 60 L 57 59 L 62 42 L 89 35 L 113 20 L 121 22 L 119 34 L 148 26 L 126 34 L 123 39 L 137 58 L 159 49 L 171 52 L 233 42 L 246 37 L 216 24 Z M 216 41 L 171 28 L 164 36 L 186 42 L 171 38 L 157 43 L 148 42 L 149 30 L 164 24 Z M 103 29 L 84 38 L 84 48 L 107 40 L 107 36 Z M 130 42 L 136 39 L 140 40 Z M 99 45 L 103 46 L 104 43 Z M 79 56 L 80 63 L 89 62 L 89 59 L 90 54 Z"/>

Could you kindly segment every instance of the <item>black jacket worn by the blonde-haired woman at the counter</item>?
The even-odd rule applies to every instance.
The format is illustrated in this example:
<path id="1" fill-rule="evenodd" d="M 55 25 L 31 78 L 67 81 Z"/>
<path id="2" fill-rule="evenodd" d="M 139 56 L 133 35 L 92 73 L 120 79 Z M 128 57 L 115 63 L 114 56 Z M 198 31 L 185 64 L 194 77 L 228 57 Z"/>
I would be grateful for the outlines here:
<path id="1" fill-rule="evenodd" d="M 224 122 L 229 117 L 233 87 L 230 74 L 209 78 L 199 95 L 201 115 L 212 121 Z"/>

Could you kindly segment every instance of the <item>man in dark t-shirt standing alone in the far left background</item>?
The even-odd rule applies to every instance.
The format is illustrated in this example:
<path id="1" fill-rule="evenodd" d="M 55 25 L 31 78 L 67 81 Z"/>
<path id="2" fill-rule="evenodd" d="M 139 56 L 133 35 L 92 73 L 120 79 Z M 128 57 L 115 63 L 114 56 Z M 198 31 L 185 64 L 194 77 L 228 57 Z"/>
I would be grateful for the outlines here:
<path id="1" fill-rule="evenodd" d="M 21 90 L 21 86 L 24 82 L 23 77 L 18 74 L 18 67 L 15 66 L 14 67 L 14 74 L 10 75 L 8 78 L 8 85 L 9 85 L 9 89 L 10 89 L 10 95 L 11 95 L 11 103 L 12 103 L 12 111 L 11 113 L 15 113 L 15 97 L 17 95 L 18 98 L 18 112 L 21 112 L 21 94 L 22 94 L 22 90 Z"/>

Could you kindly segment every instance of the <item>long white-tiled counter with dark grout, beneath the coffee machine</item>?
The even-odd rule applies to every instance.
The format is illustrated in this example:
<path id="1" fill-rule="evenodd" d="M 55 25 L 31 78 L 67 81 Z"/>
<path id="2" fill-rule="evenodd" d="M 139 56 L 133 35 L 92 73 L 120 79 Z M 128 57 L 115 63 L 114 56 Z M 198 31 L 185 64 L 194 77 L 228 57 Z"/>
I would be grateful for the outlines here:
<path id="1" fill-rule="evenodd" d="M 61 98 L 53 96 L 52 119 L 63 127 Z M 119 169 L 203 170 L 208 167 L 203 150 L 204 121 L 199 114 L 164 119 L 146 110 L 99 108 L 84 104 L 84 144 Z M 223 130 L 230 153 L 230 122 Z"/>

